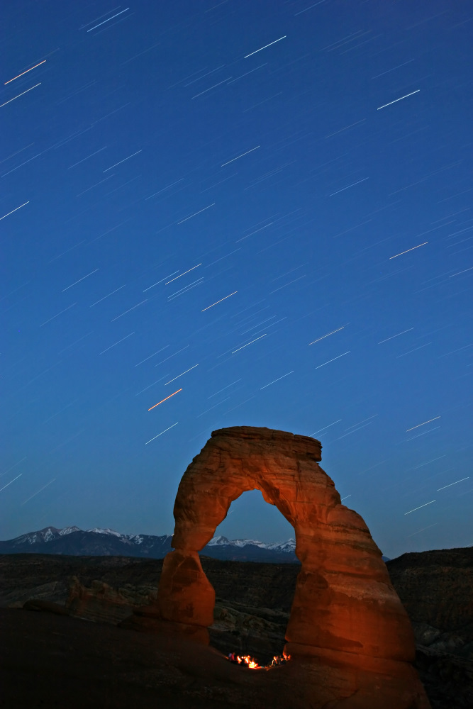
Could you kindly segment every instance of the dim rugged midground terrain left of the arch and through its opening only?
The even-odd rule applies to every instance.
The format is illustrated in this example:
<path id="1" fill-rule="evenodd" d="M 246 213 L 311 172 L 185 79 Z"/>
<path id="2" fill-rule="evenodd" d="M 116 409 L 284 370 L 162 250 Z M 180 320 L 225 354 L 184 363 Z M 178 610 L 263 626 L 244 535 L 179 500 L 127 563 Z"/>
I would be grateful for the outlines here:
<path id="1" fill-rule="evenodd" d="M 202 564 L 217 596 L 213 645 L 258 654 L 261 661 L 282 652 L 300 566 L 210 558 Z M 47 601 L 80 618 L 119 623 L 156 597 L 161 569 L 162 559 L 0 555 L 0 607 Z"/>

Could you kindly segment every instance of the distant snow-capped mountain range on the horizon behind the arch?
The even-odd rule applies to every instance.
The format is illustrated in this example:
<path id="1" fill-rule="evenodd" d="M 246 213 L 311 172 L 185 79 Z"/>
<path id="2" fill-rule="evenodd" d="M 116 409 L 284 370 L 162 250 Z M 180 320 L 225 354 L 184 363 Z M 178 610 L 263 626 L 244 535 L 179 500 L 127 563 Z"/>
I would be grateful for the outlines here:
<path id="1" fill-rule="evenodd" d="M 95 527 L 45 527 L 15 539 L 0 542 L 0 554 L 64 554 L 72 557 L 141 557 L 163 559 L 172 551 L 172 535 L 121 534 L 111 529 Z M 206 557 L 235 562 L 267 562 L 299 564 L 296 540 L 258 542 L 252 539 L 228 540 L 218 536 L 200 552 Z M 389 561 L 383 557 L 384 561 Z"/>

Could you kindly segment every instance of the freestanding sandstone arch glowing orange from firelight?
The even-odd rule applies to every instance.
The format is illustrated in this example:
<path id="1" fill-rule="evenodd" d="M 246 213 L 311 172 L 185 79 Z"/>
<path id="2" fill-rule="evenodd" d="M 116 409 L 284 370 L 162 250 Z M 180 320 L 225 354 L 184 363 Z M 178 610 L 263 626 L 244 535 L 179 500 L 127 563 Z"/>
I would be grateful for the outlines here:
<path id="1" fill-rule="evenodd" d="M 312 675 L 318 667 L 315 682 L 325 686 L 327 696 L 355 693 L 362 701 L 347 700 L 344 707 L 369 708 L 374 693 L 384 709 L 427 708 L 411 666 L 411 624 L 382 553 L 360 515 L 340 503 L 320 460 L 321 443 L 307 436 L 247 426 L 213 431 L 177 491 L 175 551 L 165 558 L 157 595 L 159 626 L 167 621 L 169 628 L 206 642 L 215 593 L 197 552 L 212 539 L 233 500 L 257 489 L 296 532 L 301 571 L 286 652 L 309 661 Z"/>

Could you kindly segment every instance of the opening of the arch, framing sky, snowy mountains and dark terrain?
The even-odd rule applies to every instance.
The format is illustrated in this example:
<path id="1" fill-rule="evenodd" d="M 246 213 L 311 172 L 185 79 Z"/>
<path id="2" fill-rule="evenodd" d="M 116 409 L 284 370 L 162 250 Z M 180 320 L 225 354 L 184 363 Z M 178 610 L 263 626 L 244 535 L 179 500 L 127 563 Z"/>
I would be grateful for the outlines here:
<path id="1" fill-rule="evenodd" d="M 238 520 L 231 527 L 226 520 L 217 527 L 216 542 L 211 549 L 204 547 L 201 564 L 216 591 L 213 624 L 208 628 L 211 646 L 227 656 L 230 652 L 240 657 L 249 655 L 259 666 L 267 667 L 276 664 L 275 657 L 278 664 L 284 664 L 286 627 L 300 564 L 294 554 L 294 527 L 286 523 L 275 506 L 265 503 L 260 491 L 253 492 L 245 492 L 233 501 L 228 515 L 234 512 Z M 285 550 L 255 545 L 254 540 L 263 544 L 270 541 L 265 535 L 268 524 L 277 529 L 271 541 L 284 540 Z M 238 545 L 229 555 L 226 540 L 235 537 Z M 223 557 L 218 553 L 221 545 L 225 549 Z M 232 561 L 216 566 L 214 559 L 220 558 Z"/>

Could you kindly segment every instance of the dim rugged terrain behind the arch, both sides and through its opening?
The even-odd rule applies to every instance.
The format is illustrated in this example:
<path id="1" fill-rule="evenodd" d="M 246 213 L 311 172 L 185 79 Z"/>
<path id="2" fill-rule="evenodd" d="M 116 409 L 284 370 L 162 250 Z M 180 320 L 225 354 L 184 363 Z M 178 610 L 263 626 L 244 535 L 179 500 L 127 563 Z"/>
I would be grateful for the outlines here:
<path id="1" fill-rule="evenodd" d="M 202 564 L 217 596 L 213 647 L 247 652 L 260 663 L 281 652 L 300 566 L 209 558 Z M 404 554 L 387 567 L 413 624 L 417 669 L 433 709 L 471 709 L 473 549 Z M 155 598 L 161 568 L 161 559 L 0 555 L 0 607 L 29 601 L 32 610 L 118 625 Z M 23 622 L 39 615 L 52 613 L 26 613 Z"/>

